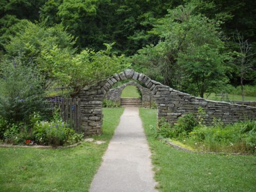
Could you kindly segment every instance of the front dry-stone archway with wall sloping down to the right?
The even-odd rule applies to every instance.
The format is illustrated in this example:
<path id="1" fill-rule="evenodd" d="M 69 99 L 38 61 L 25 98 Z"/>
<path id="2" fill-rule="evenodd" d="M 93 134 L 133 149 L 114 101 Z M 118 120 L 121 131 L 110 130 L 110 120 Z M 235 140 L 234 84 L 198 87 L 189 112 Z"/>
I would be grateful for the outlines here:
<path id="1" fill-rule="evenodd" d="M 212 123 L 214 117 L 221 118 L 225 124 L 255 119 L 256 117 L 256 107 L 193 97 L 190 94 L 162 85 L 133 69 L 126 69 L 119 74 L 114 74 L 106 81 L 84 88 L 75 95 L 75 98 L 81 99 L 82 131 L 85 135 L 102 133 L 102 100 L 116 82 L 125 79 L 134 79 L 144 84 L 154 96 L 157 118 L 164 118 L 166 122 L 171 124 L 186 113 L 196 115 L 199 106 L 206 111 L 206 124 Z"/>

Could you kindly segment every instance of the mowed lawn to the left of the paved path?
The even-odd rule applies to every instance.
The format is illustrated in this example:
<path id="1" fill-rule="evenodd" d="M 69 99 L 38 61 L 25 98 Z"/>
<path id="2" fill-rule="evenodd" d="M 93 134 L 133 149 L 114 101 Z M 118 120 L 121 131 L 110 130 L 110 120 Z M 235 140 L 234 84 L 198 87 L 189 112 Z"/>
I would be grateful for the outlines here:
<path id="1" fill-rule="evenodd" d="M 0 191 L 89 191 L 123 108 L 103 109 L 103 134 L 97 145 L 75 148 L 0 148 Z"/>

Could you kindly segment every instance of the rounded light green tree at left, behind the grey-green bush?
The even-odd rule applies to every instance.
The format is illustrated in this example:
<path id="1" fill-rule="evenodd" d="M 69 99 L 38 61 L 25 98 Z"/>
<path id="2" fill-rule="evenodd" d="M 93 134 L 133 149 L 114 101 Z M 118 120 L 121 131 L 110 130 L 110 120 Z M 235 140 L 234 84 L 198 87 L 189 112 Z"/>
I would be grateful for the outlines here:
<path id="1" fill-rule="evenodd" d="M 7 52 L 5 58 L 19 58 L 23 65 L 36 66 L 39 73 L 45 77 L 43 86 L 46 89 L 51 84 L 53 76 L 49 65 L 42 62 L 44 53 L 58 47 L 63 54 L 68 53 L 69 57 L 72 57 L 76 51 L 73 48 L 74 37 L 67 34 L 58 25 L 46 28 L 27 21 L 25 26 L 14 36 L 11 36 L 10 43 L 5 45 Z M 14 28 L 17 28 L 17 26 L 14 26 Z M 56 58 L 55 62 L 61 61 Z"/>

